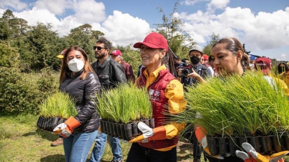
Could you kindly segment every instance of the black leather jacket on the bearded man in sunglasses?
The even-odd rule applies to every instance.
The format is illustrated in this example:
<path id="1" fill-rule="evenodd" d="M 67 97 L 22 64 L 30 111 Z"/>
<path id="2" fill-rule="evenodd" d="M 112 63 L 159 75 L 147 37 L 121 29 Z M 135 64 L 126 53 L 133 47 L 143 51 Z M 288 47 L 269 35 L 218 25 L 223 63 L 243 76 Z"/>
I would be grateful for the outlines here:
<path id="1" fill-rule="evenodd" d="M 111 89 L 114 88 L 117 83 L 126 82 L 126 74 L 124 73 L 123 66 L 109 56 L 107 56 L 101 65 L 98 64 L 97 60 L 92 63 L 91 66 L 99 77 L 102 88 Z"/>

